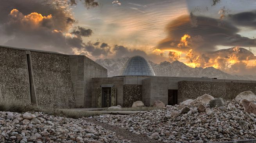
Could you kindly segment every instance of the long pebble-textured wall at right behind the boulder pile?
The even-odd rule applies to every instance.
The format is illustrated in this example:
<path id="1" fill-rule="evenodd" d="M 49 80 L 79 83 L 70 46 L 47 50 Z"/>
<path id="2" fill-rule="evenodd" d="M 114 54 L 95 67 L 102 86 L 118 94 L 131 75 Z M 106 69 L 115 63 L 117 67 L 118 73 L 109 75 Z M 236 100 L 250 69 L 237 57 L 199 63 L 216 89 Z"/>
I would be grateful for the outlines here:
<path id="1" fill-rule="evenodd" d="M 256 93 L 256 83 L 181 81 L 179 82 L 178 103 L 186 99 L 195 99 L 203 94 L 231 100 L 243 91 Z"/>

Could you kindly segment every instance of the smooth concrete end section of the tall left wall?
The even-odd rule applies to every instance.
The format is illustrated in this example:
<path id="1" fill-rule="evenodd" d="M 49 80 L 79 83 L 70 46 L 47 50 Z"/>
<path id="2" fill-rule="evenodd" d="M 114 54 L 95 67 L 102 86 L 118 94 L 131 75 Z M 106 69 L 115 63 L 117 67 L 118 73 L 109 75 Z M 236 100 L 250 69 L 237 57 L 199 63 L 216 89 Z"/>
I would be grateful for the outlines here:
<path id="1" fill-rule="evenodd" d="M 92 106 L 92 78 L 107 77 L 107 69 L 86 56 L 70 55 L 70 69 L 77 108 Z"/>

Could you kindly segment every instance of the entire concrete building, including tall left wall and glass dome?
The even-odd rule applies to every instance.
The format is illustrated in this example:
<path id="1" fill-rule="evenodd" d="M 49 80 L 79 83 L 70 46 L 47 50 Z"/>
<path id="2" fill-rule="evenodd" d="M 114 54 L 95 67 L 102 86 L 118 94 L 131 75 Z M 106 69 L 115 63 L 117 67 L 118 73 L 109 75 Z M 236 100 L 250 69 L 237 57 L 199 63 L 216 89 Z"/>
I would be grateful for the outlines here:
<path id="1" fill-rule="evenodd" d="M 215 78 L 158 77 L 143 57 L 130 58 L 120 75 L 86 56 L 0 46 L 0 101 L 58 108 L 90 108 L 141 100 L 174 105 L 203 94 L 233 99 L 256 93 L 256 81 Z"/>

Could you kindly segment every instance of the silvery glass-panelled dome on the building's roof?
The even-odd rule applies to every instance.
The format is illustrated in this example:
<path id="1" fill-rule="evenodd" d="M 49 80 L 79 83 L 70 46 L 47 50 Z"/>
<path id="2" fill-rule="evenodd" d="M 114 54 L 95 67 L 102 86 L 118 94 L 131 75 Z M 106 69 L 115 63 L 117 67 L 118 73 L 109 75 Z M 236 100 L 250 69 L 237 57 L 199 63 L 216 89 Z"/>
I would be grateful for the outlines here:
<path id="1" fill-rule="evenodd" d="M 141 56 L 134 56 L 128 59 L 119 76 L 126 75 L 156 76 L 149 62 Z"/>

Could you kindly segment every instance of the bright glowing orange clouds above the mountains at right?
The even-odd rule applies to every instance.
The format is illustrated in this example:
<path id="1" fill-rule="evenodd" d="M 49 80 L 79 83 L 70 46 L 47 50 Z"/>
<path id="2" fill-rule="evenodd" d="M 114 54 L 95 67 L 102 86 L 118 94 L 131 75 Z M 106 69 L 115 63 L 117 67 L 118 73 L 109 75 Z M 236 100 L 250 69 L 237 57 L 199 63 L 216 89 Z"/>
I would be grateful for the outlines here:
<path id="1" fill-rule="evenodd" d="M 204 53 L 190 49 L 186 53 L 186 58 L 189 59 L 186 64 L 192 67 L 213 66 L 231 74 L 249 74 L 252 69 L 256 69 L 256 56 L 251 51 L 241 47 Z"/>

